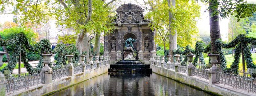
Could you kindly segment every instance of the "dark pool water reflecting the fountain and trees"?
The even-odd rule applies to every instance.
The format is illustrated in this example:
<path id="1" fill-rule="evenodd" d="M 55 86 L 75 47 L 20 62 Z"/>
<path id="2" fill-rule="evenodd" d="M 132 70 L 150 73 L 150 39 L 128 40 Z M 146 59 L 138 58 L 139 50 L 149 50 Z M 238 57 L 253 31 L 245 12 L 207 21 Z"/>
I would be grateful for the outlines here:
<path id="1" fill-rule="evenodd" d="M 211 96 L 206 92 L 152 74 L 106 73 L 52 94 L 53 96 Z"/>

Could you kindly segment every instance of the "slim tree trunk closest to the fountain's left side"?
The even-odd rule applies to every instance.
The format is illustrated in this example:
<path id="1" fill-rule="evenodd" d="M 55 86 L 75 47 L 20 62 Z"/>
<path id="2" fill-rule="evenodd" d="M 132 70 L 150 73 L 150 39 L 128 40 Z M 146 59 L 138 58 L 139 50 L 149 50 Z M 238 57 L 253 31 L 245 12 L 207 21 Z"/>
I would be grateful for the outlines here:
<path id="1" fill-rule="evenodd" d="M 100 56 L 100 32 L 96 32 L 93 51 Z"/>

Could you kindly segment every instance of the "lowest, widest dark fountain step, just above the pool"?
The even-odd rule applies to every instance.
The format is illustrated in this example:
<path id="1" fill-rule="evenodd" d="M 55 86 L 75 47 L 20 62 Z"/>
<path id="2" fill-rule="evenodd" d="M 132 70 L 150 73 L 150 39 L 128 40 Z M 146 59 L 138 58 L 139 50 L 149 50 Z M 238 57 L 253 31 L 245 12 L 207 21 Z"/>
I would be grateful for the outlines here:
<path id="1" fill-rule="evenodd" d="M 127 73 L 152 72 L 152 69 L 108 69 L 108 72 L 127 72 Z"/>

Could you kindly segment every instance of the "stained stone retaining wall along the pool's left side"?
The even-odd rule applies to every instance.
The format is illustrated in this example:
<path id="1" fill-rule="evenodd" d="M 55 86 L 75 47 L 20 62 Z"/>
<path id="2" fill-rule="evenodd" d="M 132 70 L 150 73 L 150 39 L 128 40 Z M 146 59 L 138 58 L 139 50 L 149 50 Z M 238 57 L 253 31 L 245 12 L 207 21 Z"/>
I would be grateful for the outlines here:
<path id="1" fill-rule="evenodd" d="M 66 89 L 70 86 L 73 86 L 75 84 L 78 84 L 80 82 L 83 82 L 85 80 L 88 80 L 90 78 L 93 78 L 95 76 L 99 76 L 101 74 L 104 74 L 108 72 L 108 68 L 110 65 L 104 65 L 99 68 L 91 69 L 85 72 L 80 72 L 78 74 L 75 74 L 73 77 L 63 77 L 61 79 L 57 79 L 53 81 L 50 84 L 39 84 L 37 86 L 32 86 L 28 89 L 23 89 L 20 91 L 17 91 L 12 94 L 6 94 L 7 96 L 41 96 L 41 95 L 49 95 L 51 93 Z"/>

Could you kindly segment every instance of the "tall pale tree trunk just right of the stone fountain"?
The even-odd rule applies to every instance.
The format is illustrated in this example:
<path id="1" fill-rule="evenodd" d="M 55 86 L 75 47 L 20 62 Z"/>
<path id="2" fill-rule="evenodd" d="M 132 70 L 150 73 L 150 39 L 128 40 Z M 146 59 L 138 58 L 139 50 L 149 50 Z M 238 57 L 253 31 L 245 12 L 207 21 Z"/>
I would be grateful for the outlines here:
<path id="1" fill-rule="evenodd" d="M 175 8 L 175 4 L 176 4 L 175 2 L 176 2 L 175 0 L 172 0 L 172 6 L 174 8 Z M 168 0 L 168 6 L 169 6 L 169 8 L 171 8 L 171 0 Z M 169 38 L 170 51 L 169 51 L 169 54 L 172 56 L 171 57 L 171 62 L 174 63 L 174 61 L 173 61 L 173 50 L 177 49 L 177 31 L 174 30 L 174 34 L 171 31 L 172 30 L 172 28 L 171 28 L 172 19 L 174 19 L 174 18 L 172 16 L 172 13 L 169 11 L 169 33 L 170 33 L 170 38 Z"/>

